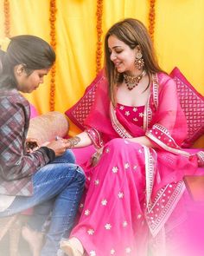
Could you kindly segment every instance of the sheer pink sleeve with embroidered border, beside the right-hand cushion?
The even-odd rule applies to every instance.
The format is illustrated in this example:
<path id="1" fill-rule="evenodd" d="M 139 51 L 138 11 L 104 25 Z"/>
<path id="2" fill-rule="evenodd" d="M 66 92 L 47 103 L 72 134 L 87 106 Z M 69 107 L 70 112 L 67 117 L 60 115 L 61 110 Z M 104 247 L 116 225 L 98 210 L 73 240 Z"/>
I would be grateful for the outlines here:
<path id="1" fill-rule="evenodd" d="M 175 149 L 181 149 L 188 128 L 177 97 L 176 84 L 165 74 L 159 74 L 158 81 L 156 80 L 155 77 L 148 106 L 152 109 L 152 116 L 148 120 L 146 135 L 159 147 L 175 154 L 182 154 Z"/>

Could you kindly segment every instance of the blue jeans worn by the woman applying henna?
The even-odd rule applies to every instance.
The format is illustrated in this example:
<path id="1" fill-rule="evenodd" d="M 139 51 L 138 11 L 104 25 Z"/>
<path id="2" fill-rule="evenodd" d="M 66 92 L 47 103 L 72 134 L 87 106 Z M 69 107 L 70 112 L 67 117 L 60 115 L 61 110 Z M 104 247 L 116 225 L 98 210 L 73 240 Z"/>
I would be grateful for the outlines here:
<path id="1" fill-rule="evenodd" d="M 28 225 L 38 232 L 51 214 L 50 225 L 41 256 L 55 256 L 59 241 L 67 237 L 73 227 L 85 184 L 85 174 L 77 166 L 71 150 L 41 167 L 32 177 L 34 194 L 16 196 L 0 217 L 20 213 L 34 207 Z"/>

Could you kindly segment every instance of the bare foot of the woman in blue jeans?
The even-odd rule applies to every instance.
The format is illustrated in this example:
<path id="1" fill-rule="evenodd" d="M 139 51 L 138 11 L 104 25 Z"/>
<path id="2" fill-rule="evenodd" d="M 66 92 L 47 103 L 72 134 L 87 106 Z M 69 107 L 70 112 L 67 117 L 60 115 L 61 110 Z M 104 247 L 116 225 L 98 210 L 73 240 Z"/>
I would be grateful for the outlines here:
<path id="1" fill-rule="evenodd" d="M 33 256 L 40 256 L 41 247 L 43 246 L 43 234 L 32 230 L 28 226 L 23 226 L 22 237 L 29 243 L 29 247 Z"/>

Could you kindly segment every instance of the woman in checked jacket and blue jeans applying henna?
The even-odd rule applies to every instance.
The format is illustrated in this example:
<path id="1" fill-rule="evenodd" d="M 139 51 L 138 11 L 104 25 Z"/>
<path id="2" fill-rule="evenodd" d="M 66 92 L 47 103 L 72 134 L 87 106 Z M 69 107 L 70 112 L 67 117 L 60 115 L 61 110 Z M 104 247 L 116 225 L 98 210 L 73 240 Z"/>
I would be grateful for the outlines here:
<path id="1" fill-rule="evenodd" d="M 26 143 L 30 109 L 19 91 L 37 89 L 54 60 L 54 50 L 41 38 L 14 36 L 0 74 L 0 217 L 34 207 L 22 230 L 33 256 L 56 255 L 59 241 L 71 231 L 85 183 L 65 141 L 51 141 L 40 148 L 36 140 Z M 41 250 L 42 227 L 51 211 Z"/>

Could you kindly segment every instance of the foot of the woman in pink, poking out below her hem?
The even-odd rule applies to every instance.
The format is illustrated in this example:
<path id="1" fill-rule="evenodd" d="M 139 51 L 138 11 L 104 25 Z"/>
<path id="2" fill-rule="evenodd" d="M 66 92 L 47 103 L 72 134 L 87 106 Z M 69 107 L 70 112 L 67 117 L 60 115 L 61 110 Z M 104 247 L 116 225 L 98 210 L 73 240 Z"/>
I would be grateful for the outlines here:
<path id="1" fill-rule="evenodd" d="M 61 250 L 69 256 L 84 255 L 84 247 L 80 240 L 73 237 L 70 240 L 62 240 L 60 243 Z"/>

